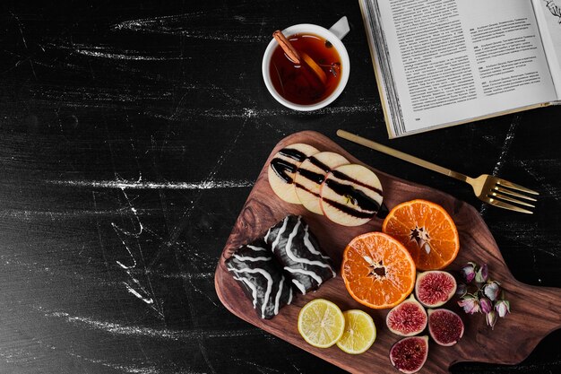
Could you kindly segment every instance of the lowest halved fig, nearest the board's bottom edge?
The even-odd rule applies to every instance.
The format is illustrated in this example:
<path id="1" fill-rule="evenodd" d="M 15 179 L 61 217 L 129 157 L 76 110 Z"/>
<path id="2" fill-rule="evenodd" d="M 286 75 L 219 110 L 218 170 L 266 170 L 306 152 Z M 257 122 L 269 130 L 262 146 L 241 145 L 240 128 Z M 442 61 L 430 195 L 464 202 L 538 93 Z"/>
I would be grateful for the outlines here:
<path id="1" fill-rule="evenodd" d="M 390 361 L 405 374 L 421 370 L 428 356 L 428 336 L 408 336 L 393 344 Z"/>

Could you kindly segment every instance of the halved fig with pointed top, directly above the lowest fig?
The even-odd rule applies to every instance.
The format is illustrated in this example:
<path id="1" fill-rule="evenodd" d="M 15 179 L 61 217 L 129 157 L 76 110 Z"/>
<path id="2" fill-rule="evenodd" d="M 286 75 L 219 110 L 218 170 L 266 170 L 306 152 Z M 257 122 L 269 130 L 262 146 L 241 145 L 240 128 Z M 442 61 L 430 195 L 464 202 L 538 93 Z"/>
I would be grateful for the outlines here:
<path id="1" fill-rule="evenodd" d="M 393 307 L 385 317 L 385 324 L 393 334 L 413 336 L 427 327 L 427 312 L 413 294 Z"/>

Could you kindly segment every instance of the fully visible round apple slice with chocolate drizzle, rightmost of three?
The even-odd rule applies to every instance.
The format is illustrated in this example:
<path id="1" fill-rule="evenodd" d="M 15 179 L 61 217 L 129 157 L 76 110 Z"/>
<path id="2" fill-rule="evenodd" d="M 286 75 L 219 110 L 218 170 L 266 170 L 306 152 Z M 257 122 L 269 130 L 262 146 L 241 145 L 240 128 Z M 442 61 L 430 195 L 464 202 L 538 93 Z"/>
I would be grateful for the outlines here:
<path id="1" fill-rule="evenodd" d="M 358 164 L 333 169 L 320 189 L 327 218 L 343 226 L 367 223 L 382 204 L 382 184 L 372 170 Z"/>

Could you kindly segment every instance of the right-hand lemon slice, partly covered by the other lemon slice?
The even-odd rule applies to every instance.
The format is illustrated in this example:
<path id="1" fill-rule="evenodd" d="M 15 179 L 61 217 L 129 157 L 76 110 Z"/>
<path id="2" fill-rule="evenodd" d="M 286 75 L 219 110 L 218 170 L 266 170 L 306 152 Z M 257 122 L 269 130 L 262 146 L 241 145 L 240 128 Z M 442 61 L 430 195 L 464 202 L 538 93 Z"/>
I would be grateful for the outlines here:
<path id="1" fill-rule="evenodd" d="M 367 352 L 374 344 L 376 327 L 374 320 L 366 312 L 351 309 L 343 312 L 345 332 L 337 342 L 342 351 L 350 354 Z"/>

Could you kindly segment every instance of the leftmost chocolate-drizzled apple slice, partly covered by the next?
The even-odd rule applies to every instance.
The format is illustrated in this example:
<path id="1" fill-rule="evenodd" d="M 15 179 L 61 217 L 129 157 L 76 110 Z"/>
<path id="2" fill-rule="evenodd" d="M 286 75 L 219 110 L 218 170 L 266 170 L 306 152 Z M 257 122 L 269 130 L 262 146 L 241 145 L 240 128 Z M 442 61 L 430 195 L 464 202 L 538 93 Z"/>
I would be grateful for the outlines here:
<path id="1" fill-rule="evenodd" d="M 282 148 L 269 164 L 269 184 L 277 196 L 287 203 L 301 204 L 294 187 L 296 170 L 306 157 L 319 152 L 303 143 L 290 144 Z"/>

